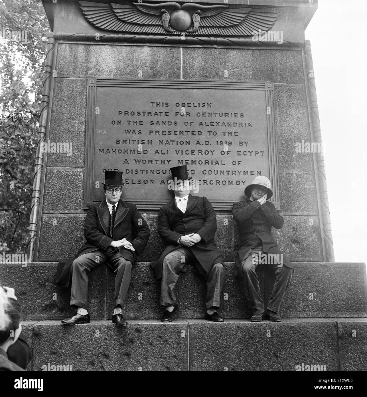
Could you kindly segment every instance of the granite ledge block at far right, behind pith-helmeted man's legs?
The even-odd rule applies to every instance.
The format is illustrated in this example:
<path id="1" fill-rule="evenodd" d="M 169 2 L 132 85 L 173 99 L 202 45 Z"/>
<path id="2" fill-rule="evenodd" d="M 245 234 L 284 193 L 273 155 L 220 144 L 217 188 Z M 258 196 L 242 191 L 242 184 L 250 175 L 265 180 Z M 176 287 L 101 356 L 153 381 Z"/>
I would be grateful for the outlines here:
<path id="1" fill-rule="evenodd" d="M 279 315 L 294 317 L 366 317 L 367 282 L 363 263 L 293 262 L 291 285 Z M 275 276 L 264 272 L 265 303 Z"/>

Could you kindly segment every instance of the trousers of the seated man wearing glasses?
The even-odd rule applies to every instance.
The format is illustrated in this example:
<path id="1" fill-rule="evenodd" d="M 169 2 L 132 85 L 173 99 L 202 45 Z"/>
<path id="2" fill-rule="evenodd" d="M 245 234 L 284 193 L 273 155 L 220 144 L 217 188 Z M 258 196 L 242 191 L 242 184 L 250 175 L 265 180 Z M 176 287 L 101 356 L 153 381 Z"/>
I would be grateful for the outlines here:
<path id="1" fill-rule="evenodd" d="M 128 293 L 132 263 L 120 256 L 119 251 L 112 252 L 107 250 L 105 253 L 101 250 L 88 252 L 78 256 L 71 265 L 73 279 L 71 283 L 70 306 L 78 306 L 84 309 L 88 308 L 88 275 L 92 269 L 108 261 L 109 266 L 115 272 L 115 298 L 113 307 L 117 305 L 124 307 L 126 295 Z"/>

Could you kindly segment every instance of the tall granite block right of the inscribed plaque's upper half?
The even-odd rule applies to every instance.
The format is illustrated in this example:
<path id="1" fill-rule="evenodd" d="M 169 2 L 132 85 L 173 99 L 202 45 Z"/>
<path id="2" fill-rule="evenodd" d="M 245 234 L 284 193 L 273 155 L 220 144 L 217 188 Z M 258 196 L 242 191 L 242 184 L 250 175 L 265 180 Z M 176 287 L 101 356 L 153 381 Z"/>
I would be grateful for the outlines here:
<path id="1" fill-rule="evenodd" d="M 296 143 L 312 141 L 304 85 L 275 84 L 274 102 L 279 170 L 313 170 L 313 154 L 296 153 Z"/>

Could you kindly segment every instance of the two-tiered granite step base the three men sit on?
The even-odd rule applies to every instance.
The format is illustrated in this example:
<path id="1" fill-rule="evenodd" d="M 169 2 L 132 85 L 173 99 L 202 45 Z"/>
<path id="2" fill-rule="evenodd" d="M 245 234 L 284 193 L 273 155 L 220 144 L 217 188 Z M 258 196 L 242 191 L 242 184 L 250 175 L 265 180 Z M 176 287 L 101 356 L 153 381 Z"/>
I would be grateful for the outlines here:
<path id="1" fill-rule="evenodd" d="M 113 272 L 106 266 L 90 274 L 91 323 L 74 327 L 60 322 L 74 312 L 70 289 L 55 285 L 56 262 L 4 263 L 0 278 L 15 288 L 23 309 L 23 331 L 33 353 L 29 370 L 367 370 L 365 264 L 293 265 L 281 323 L 250 322 L 249 298 L 243 282 L 234 278 L 233 262 L 225 263 L 224 323 L 203 320 L 205 281 L 190 267 L 176 287 L 180 310 L 172 323 L 162 324 L 160 281 L 148 262 L 138 262 L 123 309 L 129 324 L 123 329 L 111 322 Z M 259 271 L 259 279 L 266 304 L 274 277 Z"/>

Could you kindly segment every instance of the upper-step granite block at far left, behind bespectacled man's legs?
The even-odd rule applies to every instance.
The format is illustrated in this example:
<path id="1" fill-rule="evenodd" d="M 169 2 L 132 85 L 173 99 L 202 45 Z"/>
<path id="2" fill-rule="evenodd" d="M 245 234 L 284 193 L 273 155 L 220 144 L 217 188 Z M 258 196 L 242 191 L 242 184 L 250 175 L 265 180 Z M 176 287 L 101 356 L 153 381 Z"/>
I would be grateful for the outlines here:
<path id="1" fill-rule="evenodd" d="M 75 314 L 75 309 L 69 306 L 71 286 L 56 285 L 56 270 L 55 262 L 29 262 L 26 267 L 14 263 L 0 266 L 1 283 L 15 289 L 23 320 L 61 320 Z M 105 316 L 105 274 L 103 266 L 90 273 L 88 308 L 92 319 Z"/>

